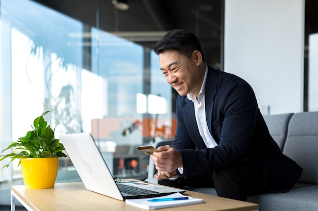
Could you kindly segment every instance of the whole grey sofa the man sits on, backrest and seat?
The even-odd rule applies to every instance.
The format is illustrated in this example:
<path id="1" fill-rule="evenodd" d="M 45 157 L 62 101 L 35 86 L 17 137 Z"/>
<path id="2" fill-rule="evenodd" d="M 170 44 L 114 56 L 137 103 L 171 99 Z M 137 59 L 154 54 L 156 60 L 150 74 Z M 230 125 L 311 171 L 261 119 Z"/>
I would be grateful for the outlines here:
<path id="1" fill-rule="evenodd" d="M 281 151 L 295 160 L 303 173 L 287 193 L 253 195 L 247 201 L 258 203 L 260 211 L 318 210 L 318 112 L 286 113 L 264 116 L 269 132 Z M 156 147 L 171 141 L 155 143 Z M 149 161 L 148 181 L 156 183 L 153 162 Z M 187 190 L 216 195 L 213 188 Z"/>

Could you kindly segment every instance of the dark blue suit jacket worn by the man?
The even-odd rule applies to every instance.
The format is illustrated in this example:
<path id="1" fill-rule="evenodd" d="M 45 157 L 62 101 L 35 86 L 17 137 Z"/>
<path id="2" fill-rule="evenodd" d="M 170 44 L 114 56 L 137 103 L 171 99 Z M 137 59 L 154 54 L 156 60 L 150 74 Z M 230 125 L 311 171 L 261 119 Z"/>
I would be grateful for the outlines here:
<path id="1" fill-rule="evenodd" d="M 208 128 L 218 144 L 211 149 L 199 134 L 194 103 L 186 96 L 177 98 L 172 146 L 182 154 L 184 172 L 178 173 L 180 177 L 203 176 L 249 160 L 260 164 L 271 192 L 288 191 L 298 181 L 302 168 L 281 153 L 246 81 L 208 67 L 205 103 Z"/>

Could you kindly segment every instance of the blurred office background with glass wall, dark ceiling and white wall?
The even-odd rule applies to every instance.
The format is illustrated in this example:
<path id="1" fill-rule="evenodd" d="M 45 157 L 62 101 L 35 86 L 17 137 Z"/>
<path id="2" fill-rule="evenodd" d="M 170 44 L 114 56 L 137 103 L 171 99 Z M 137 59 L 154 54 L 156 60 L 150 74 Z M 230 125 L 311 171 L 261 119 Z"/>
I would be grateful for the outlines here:
<path id="1" fill-rule="evenodd" d="M 51 110 L 56 136 L 90 132 L 114 175 L 145 178 L 135 146 L 175 129 L 177 94 L 151 50 L 174 28 L 198 35 L 209 65 L 246 79 L 264 115 L 318 110 L 318 1 L 115 2 L 0 0 L 0 150 Z M 23 184 L 16 166 L 0 171 L 0 204 Z M 79 177 L 61 158 L 57 182 L 68 181 Z"/>

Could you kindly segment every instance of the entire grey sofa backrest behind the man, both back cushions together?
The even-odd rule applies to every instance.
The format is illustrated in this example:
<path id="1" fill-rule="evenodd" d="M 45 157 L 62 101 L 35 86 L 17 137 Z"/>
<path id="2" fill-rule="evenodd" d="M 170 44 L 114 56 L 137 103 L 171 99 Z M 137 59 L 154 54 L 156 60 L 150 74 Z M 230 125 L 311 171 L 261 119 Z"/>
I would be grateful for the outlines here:
<path id="1" fill-rule="evenodd" d="M 318 184 L 318 111 L 264 116 L 269 132 L 282 152 L 297 162 L 303 173 L 301 183 Z M 157 148 L 172 141 L 155 143 Z M 149 160 L 148 178 L 156 174 Z"/>

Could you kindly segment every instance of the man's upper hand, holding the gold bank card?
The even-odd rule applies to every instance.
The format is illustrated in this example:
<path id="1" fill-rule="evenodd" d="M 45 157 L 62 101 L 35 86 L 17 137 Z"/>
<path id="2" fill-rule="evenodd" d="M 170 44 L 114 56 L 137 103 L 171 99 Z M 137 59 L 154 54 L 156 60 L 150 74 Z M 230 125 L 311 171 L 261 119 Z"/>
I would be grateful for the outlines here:
<path id="1" fill-rule="evenodd" d="M 181 153 L 170 145 L 158 147 L 157 151 L 153 152 L 151 159 L 155 164 L 156 170 L 161 172 L 159 173 L 160 178 L 170 178 L 177 168 L 183 167 Z"/>

